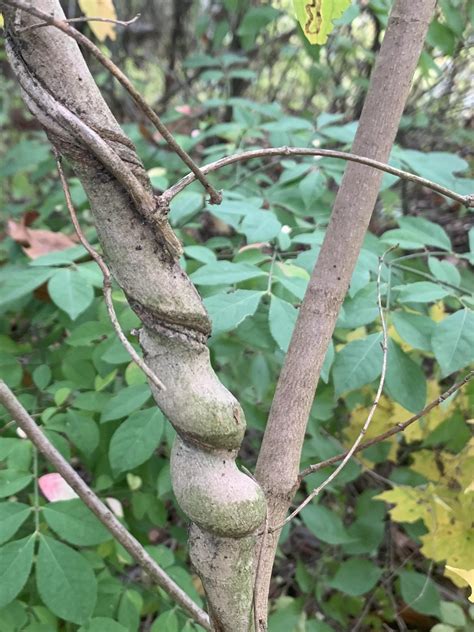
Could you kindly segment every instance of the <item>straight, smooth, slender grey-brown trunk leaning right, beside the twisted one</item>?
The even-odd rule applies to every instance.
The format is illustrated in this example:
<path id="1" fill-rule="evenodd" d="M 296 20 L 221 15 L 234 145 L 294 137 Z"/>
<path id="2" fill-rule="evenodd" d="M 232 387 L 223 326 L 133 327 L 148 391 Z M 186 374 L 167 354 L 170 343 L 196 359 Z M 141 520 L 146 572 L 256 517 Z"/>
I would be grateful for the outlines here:
<path id="1" fill-rule="evenodd" d="M 395 0 L 372 75 L 352 153 L 388 162 L 435 0 Z M 265 490 L 269 524 L 280 524 L 297 487 L 301 448 L 321 367 L 349 286 L 383 174 L 349 164 L 283 366 L 256 477 Z M 257 586 L 266 604 L 279 533 L 267 537 Z"/>

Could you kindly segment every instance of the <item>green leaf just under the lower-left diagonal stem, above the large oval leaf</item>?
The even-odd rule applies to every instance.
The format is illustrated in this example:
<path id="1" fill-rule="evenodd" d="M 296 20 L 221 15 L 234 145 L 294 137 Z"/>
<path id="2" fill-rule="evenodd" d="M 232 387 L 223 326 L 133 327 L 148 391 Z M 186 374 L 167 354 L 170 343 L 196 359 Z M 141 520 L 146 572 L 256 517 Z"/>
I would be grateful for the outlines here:
<path id="1" fill-rule="evenodd" d="M 110 532 L 79 498 L 49 503 L 42 513 L 60 538 L 76 546 L 95 546 L 112 539 Z"/>

